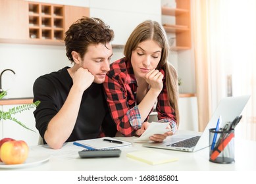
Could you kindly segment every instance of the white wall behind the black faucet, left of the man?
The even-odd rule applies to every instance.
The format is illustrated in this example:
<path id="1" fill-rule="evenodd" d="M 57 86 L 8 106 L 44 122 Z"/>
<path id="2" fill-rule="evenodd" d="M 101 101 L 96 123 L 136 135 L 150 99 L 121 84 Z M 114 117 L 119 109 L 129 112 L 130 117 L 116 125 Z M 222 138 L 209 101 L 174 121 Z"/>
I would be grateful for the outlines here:
<path id="1" fill-rule="evenodd" d="M 8 98 L 32 97 L 32 86 L 43 74 L 70 66 L 64 46 L 25 45 L 0 43 L 0 72 L 2 88 L 8 90 Z"/>

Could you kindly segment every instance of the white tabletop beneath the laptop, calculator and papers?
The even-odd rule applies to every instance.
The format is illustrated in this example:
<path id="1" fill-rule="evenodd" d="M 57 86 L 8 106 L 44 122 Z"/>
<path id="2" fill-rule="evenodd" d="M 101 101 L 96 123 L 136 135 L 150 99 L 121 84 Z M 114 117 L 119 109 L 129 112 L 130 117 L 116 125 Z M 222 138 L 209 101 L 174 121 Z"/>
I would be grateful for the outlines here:
<path id="1" fill-rule="evenodd" d="M 135 137 L 117 137 L 124 141 L 133 141 Z M 49 149 L 47 145 L 30 147 L 30 154 L 50 154 L 48 161 L 15 170 L 26 171 L 213 171 L 213 170 L 256 170 L 256 142 L 235 138 L 235 163 L 216 164 L 209 162 L 209 149 L 197 152 L 180 152 L 174 150 L 153 149 L 157 152 L 170 154 L 178 158 L 176 162 L 152 166 L 126 157 L 127 152 L 151 149 L 141 147 L 141 143 L 132 143 L 132 147 L 122 147 L 119 158 L 87 158 L 81 159 L 78 151 L 82 147 L 66 143 L 62 149 Z M 3 169 L 0 169 L 3 170 Z"/>

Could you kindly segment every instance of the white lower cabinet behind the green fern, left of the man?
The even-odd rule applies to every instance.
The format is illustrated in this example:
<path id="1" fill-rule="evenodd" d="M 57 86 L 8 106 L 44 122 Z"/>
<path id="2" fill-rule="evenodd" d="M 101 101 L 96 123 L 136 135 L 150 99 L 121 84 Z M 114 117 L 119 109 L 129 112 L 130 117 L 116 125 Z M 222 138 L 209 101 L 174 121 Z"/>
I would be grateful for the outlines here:
<path id="1" fill-rule="evenodd" d="M 3 105 L 2 109 L 3 111 L 8 111 L 14 106 L 18 105 Z M 24 140 L 29 146 L 38 145 L 39 133 L 36 129 L 36 121 L 33 114 L 34 110 L 35 108 L 25 110 L 22 113 L 14 114 L 13 117 L 15 117 L 18 121 L 22 122 L 27 127 L 30 127 L 30 129 L 33 129 L 36 132 L 25 129 L 24 127 L 18 125 L 16 122 L 13 122 L 11 120 L 1 120 L 0 138 L 2 139 L 4 137 L 11 137 L 16 140 Z"/>

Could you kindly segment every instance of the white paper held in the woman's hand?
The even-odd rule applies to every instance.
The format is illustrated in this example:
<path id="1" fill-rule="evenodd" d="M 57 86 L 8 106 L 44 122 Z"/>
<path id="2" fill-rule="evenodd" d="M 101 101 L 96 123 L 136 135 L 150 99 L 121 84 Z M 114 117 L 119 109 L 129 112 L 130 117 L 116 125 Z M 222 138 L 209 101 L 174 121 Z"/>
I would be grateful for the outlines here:
<path id="1" fill-rule="evenodd" d="M 170 129 L 166 129 L 168 126 L 167 123 L 159 123 L 159 122 L 151 122 L 151 125 L 147 127 L 147 129 L 142 133 L 142 135 L 138 139 L 134 139 L 134 141 L 149 141 L 149 137 L 154 134 L 163 134 Z"/>

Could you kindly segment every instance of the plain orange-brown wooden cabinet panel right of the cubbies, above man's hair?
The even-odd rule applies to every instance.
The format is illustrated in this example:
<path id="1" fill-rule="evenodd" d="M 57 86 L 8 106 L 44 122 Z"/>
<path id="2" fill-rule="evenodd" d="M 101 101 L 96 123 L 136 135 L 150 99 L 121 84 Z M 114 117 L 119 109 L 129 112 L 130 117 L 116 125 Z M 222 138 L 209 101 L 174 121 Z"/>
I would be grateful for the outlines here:
<path id="1" fill-rule="evenodd" d="M 90 9 L 86 7 L 74 7 L 64 6 L 64 31 L 76 22 L 76 20 L 82 18 L 82 16 L 90 16 Z"/>

